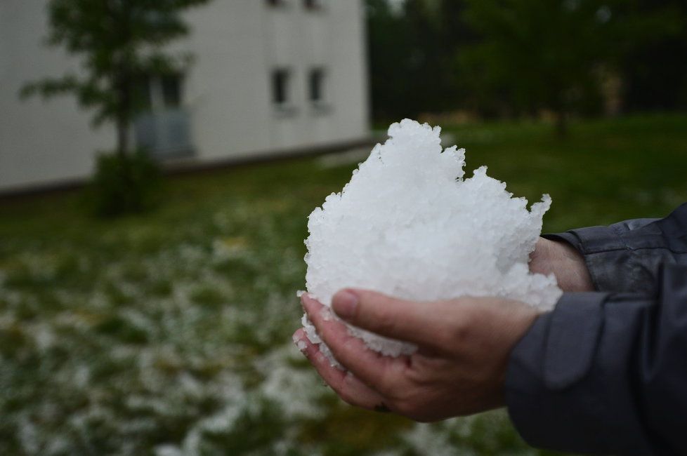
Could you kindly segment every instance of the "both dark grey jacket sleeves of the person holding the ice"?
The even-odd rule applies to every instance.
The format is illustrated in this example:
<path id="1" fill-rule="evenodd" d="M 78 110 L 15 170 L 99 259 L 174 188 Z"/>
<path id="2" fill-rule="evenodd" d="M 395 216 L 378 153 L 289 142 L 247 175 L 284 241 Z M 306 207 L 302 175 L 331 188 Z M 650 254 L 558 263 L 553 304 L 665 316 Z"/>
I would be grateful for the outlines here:
<path id="1" fill-rule="evenodd" d="M 582 253 L 597 291 L 565 293 L 513 349 L 516 428 L 540 448 L 687 455 L 687 204 L 549 237 Z"/>

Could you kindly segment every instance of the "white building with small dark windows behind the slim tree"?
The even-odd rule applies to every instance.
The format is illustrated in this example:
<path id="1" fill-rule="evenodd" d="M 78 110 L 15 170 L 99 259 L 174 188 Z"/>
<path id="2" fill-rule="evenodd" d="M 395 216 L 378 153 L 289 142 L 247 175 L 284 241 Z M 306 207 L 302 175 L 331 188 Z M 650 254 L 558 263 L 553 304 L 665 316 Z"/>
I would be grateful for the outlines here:
<path id="1" fill-rule="evenodd" d="M 91 128 L 70 95 L 19 100 L 23 83 L 79 71 L 47 48 L 47 0 L 0 1 L 0 192 L 83 180 L 114 126 Z M 188 13 L 174 48 L 195 62 L 151 78 L 134 136 L 163 159 L 242 160 L 368 135 L 362 0 L 214 0 Z"/>

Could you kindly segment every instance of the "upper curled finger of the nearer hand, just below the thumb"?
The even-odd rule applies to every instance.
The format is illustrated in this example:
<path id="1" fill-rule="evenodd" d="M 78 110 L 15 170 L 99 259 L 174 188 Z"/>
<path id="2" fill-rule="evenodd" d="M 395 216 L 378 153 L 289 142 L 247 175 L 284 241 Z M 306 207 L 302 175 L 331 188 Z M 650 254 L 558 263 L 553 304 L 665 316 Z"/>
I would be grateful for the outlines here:
<path id="1" fill-rule="evenodd" d="M 368 349 L 362 340 L 348 334 L 343 323 L 327 316 L 329 309 L 309 295 L 303 295 L 301 302 L 308 318 L 318 330 L 318 335 L 332 350 L 336 361 L 351 370 L 362 382 L 384 394 L 388 385 L 393 384 L 395 378 L 403 373 L 406 366 L 403 359 L 382 356 Z"/>

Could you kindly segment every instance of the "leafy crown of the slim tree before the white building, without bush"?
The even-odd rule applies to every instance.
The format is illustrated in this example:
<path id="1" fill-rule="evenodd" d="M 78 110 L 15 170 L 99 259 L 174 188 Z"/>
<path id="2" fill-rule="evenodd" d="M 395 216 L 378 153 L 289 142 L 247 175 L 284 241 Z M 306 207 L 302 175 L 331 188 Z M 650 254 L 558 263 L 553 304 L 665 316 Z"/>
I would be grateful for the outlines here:
<path id="1" fill-rule="evenodd" d="M 172 74 L 189 55 L 170 55 L 164 46 L 188 33 L 180 13 L 208 0 L 51 0 L 48 44 L 83 58 L 83 74 L 27 83 L 22 97 L 72 93 L 93 109 L 93 123 L 112 121 L 117 154 L 129 152 L 129 128 L 143 109 L 138 83 L 150 74 Z"/>

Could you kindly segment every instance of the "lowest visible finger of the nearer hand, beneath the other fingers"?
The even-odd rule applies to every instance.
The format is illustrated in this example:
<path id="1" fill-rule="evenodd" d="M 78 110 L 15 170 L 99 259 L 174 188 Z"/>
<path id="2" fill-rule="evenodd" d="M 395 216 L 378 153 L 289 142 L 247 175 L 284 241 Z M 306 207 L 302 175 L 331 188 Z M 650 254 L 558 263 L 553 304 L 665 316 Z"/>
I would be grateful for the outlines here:
<path id="1" fill-rule="evenodd" d="M 318 371 L 322 380 L 325 380 L 343 401 L 369 410 L 379 410 L 384 406 L 384 398 L 377 391 L 367 387 L 352 373 L 331 366 L 318 347 L 310 343 L 302 329 L 294 333 L 294 342 Z"/>

